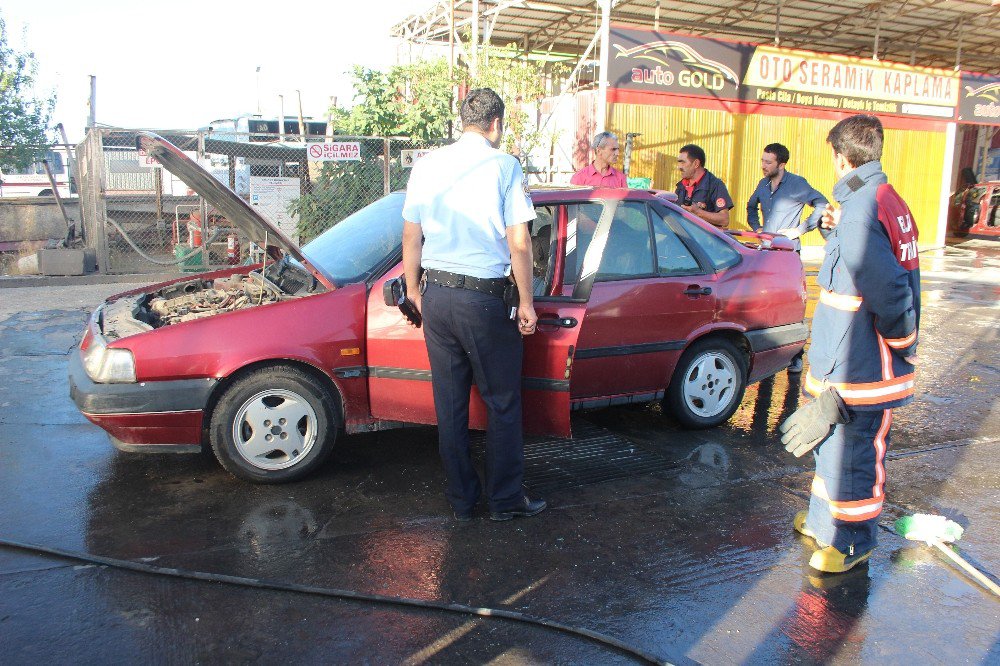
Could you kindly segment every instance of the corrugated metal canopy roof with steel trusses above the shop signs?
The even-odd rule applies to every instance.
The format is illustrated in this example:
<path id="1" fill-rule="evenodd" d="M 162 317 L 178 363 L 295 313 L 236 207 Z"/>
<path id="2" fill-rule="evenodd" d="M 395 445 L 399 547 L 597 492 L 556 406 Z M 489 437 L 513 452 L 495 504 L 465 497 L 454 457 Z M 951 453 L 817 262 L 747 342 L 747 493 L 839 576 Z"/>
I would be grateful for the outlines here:
<path id="1" fill-rule="evenodd" d="M 516 44 L 580 57 L 600 28 L 601 2 L 439 0 L 392 28 L 415 43 Z M 478 29 L 473 30 L 473 15 Z M 612 0 L 611 22 L 821 53 L 1000 73 L 1000 0 Z"/>

